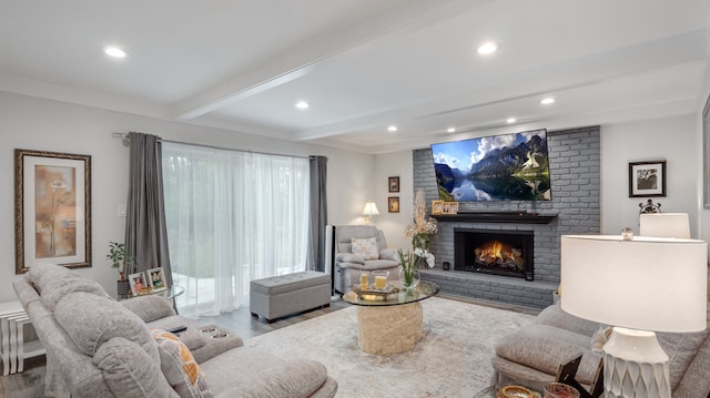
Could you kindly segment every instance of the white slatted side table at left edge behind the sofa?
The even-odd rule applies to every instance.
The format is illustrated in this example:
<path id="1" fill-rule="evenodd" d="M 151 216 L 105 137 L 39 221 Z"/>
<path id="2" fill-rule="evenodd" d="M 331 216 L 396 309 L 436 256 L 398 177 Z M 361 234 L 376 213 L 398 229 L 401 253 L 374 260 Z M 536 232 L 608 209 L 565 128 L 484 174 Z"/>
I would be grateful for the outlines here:
<path id="1" fill-rule="evenodd" d="M 0 303 L 0 349 L 2 353 L 2 375 L 24 370 L 24 359 L 45 353 L 40 340 L 24 341 L 24 325 L 30 318 L 20 302 Z"/>

